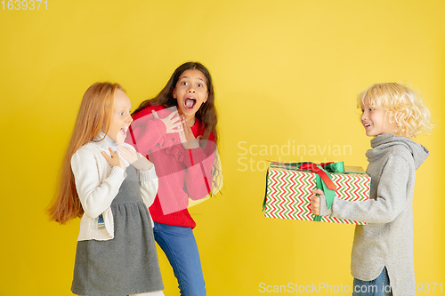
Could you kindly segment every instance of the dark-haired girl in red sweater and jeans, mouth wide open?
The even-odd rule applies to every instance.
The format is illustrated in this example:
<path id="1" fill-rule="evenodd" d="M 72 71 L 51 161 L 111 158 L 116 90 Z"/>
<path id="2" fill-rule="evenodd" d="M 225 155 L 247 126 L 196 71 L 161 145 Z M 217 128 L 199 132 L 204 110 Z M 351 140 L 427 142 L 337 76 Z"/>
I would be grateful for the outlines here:
<path id="1" fill-rule="evenodd" d="M 210 73 L 198 62 L 182 64 L 133 119 L 127 140 L 157 167 L 158 195 L 150 207 L 156 242 L 174 269 L 181 295 L 206 295 L 192 231 L 196 223 L 187 208 L 222 184 Z"/>

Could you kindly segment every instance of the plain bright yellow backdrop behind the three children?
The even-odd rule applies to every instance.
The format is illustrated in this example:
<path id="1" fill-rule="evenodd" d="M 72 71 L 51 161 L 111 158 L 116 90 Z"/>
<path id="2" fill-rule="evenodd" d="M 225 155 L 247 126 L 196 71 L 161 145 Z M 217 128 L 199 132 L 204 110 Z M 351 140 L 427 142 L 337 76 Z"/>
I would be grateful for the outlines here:
<path id="1" fill-rule="evenodd" d="M 445 284 L 443 1 L 48 0 L 43 8 L 0 6 L 0 295 L 71 294 L 79 220 L 59 226 L 44 208 L 88 86 L 123 84 L 136 108 L 189 60 L 214 78 L 225 183 L 223 195 L 190 209 L 208 295 L 269 294 L 261 283 L 270 291 L 352 284 L 354 227 L 264 218 L 263 161 L 366 167 L 370 139 L 355 96 L 393 81 L 415 85 L 437 123 L 417 139 L 431 156 L 417 171 L 414 248 L 417 282 Z M 270 149 L 288 144 L 295 154 Z M 336 145 L 349 148 L 334 155 Z M 166 295 L 178 295 L 159 259 Z"/>

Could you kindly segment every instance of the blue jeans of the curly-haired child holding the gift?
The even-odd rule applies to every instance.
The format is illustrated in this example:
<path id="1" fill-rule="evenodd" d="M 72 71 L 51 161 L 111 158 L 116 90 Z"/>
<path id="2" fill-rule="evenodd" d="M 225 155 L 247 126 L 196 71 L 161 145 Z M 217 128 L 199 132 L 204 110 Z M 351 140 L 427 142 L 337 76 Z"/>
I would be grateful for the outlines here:
<path id="1" fill-rule="evenodd" d="M 386 268 L 372 281 L 354 278 L 352 296 L 392 296 Z"/>

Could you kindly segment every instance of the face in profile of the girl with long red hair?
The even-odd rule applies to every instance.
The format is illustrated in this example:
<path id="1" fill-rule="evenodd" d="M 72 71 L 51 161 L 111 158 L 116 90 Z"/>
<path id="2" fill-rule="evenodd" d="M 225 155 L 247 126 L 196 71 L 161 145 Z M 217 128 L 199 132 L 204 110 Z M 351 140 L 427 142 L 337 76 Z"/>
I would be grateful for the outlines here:
<path id="1" fill-rule="evenodd" d="M 109 124 L 109 132 L 107 135 L 111 140 L 122 144 L 126 137 L 128 126 L 133 121 L 130 115 L 132 109 L 132 102 L 125 92 L 117 90 L 114 96 L 113 114 L 111 115 L 111 122 Z"/>

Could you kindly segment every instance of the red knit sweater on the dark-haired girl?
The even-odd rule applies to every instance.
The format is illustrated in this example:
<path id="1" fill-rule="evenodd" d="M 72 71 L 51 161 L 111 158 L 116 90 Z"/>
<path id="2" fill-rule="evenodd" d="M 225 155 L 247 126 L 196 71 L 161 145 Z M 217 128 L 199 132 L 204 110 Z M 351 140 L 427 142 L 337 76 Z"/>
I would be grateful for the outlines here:
<path id="1" fill-rule="evenodd" d="M 166 125 L 154 118 L 151 110 L 157 111 L 159 118 L 173 111 L 163 106 L 143 109 L 133 116 L 131 137 L 126 138 L 138 152 L 155 164 L 159 188 L 155 202 L 150 206 L 151 217 L 158 223 L 195 228 L 196 223 L 187 209 L 189 197 L 193 200 L 204 198 L 212 187 L 214 134 L 210 133 L 204 150 L 185 149 L 178 133 L 166 133 Z M 191 131 L 195 138 L 204 134 L 198 118 Z"/>

